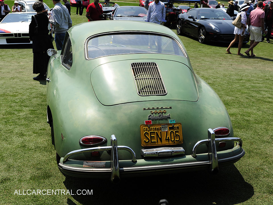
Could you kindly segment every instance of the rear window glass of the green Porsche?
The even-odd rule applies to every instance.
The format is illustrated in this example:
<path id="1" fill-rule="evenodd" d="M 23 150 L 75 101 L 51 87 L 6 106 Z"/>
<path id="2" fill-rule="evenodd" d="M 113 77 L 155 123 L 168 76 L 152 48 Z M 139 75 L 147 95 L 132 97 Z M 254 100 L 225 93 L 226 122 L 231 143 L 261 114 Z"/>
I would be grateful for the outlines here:
<path id="1" fill-rule="evenodd" d="M 88 59 L 117 54 L 158 53 L 185 57 L 182 46 L 173 38 L 148 33 L 107 34 L 90 38 Z"/>

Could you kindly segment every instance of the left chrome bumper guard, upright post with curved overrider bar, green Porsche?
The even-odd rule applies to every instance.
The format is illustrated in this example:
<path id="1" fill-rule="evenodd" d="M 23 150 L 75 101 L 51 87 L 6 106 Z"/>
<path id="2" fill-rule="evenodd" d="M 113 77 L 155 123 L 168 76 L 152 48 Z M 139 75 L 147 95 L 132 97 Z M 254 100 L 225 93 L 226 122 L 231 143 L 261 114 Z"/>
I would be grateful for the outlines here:
<path id="1" fill-rule="evenodd" d="M 120 181 L 119 178 L 119 159 L 118 159 L 118 150 L 126 150 L 129 151 L 132 155 L 132 162 L 137 162 L 136 154 L 130 147 L 127 146 L 118 146 L 117 145 L 117 138 L 115 135 L 111 135 L 111 146 L 106 147 L 92 147 L 92 148 L 86 148 L 86 149 L 78 149 L 71 151 L 65 155 L 63 158 L 63 162 L 66 162 L 68 158 L 75 154 L 81 154 L 86 152 L 92 152 L 92 151 L 107 151 L 111 150 L 111 181 L 117 183 Z"/>

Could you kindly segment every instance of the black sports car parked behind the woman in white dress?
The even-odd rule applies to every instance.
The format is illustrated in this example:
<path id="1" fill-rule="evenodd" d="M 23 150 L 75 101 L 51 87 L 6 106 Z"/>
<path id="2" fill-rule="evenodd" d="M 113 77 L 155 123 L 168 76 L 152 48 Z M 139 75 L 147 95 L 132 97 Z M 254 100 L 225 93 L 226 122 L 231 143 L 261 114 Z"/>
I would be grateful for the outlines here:
<path id="1" fill-rule="evenodd" d="M 221 9 L 197 8 L 177 17 L 177 34 L 187 34 L 198 38 L 200 43 L 206 41 L 231 42 L 235 35 L 231 17 Z M 249 41 L 245 35 L 243 43 Z"/>

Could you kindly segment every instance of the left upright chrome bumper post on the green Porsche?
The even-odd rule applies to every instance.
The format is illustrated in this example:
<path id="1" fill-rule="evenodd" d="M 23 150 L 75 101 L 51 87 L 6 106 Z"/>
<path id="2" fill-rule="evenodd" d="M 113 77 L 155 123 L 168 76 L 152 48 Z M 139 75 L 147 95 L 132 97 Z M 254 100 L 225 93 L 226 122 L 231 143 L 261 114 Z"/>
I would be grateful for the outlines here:
<path id="1" fill-rule="evenodd" d="M 117 154 L 117 138 L 111 135 L 111 181 L 119 181 L 119 156 Z"/>

